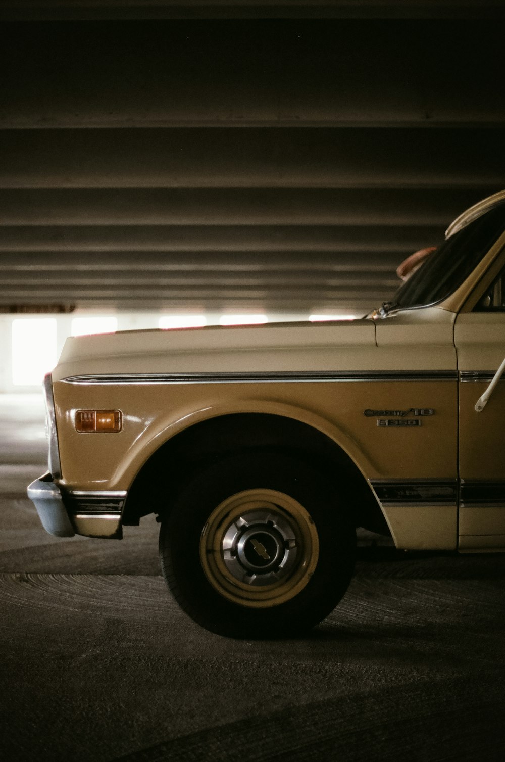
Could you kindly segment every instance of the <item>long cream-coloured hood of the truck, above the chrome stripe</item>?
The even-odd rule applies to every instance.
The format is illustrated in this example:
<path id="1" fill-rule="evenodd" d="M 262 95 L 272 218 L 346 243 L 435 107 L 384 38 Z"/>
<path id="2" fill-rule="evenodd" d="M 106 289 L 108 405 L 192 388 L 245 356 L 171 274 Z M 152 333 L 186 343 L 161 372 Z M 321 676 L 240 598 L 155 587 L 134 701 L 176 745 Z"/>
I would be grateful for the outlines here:
<path id="1" fill-rule="evenodd" d="M 233 328 L 119 331 L 68 338 L 53 380 L 152 373 L 365 370 L 376 349 L 370 319 Z"/>

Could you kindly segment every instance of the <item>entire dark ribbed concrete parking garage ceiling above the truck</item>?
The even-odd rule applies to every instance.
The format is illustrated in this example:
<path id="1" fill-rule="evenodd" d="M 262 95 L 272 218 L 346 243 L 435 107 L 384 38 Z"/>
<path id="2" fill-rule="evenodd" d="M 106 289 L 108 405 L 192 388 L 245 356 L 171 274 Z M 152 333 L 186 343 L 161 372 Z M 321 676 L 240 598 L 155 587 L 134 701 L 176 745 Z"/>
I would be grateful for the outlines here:
<path id="1" fill-rule="evenodd" d="M 505 187 L 503 2 L 2 2 L 0 310 L 363 313 Z"/>

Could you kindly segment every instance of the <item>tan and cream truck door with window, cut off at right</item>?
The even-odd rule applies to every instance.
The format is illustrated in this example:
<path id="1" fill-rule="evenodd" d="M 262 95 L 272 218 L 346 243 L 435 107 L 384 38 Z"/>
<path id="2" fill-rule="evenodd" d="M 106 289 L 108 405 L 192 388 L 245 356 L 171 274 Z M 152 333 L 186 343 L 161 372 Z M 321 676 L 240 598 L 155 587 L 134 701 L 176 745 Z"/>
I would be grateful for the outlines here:
<path id="1" fill-rule="evenodd" d="M 505 549 L 505 373 L 475 404 L 505 358 L 505 259 L 455 321 L 459 370 L 459 549 Z M 500 270 L 501 268 L 501 270 Z M 498 271 L 498 275 L 495 273 Z"/>

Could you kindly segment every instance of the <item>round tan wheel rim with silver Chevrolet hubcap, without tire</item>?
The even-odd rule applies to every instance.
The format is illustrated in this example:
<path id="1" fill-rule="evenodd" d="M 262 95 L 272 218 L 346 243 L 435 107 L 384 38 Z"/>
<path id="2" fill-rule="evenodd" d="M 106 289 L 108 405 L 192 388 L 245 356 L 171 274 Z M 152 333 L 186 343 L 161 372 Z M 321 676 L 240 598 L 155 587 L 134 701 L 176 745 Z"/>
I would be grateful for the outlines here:
<path id="1" fill-rule="evenodd" d="M 216 507 L 203 527 L 200 560 L 213 588 L 241 606 L 278 606 L 305 588 L 318 563 L 315 524 L 283 492 L 249 489 Z"/>

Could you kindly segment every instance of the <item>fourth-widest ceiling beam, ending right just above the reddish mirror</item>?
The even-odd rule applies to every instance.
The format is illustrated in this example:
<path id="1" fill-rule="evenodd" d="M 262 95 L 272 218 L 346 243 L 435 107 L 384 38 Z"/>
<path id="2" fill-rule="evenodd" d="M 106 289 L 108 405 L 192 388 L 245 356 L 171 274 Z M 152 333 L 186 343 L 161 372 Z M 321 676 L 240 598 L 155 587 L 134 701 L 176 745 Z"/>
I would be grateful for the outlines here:
<path id="1" fill-rule="evenodd" d="M 443 227 L 443 226 L 442 226 Z M 76 253 L 185 252 L 197 256 L 210 252 L 241 251 L 248 254 L 267 251 L 365 252 L 414 251 L 426 242 L 439 240 L 441 226 L 3 226 L 0 251 L 50 251 Z M 60 255 L 58 255 L 59 257 Z M 372 256 L 372 260 L 373 260 Z"/>

